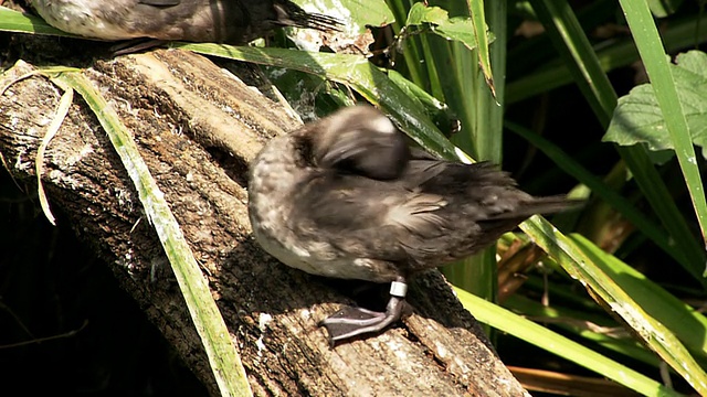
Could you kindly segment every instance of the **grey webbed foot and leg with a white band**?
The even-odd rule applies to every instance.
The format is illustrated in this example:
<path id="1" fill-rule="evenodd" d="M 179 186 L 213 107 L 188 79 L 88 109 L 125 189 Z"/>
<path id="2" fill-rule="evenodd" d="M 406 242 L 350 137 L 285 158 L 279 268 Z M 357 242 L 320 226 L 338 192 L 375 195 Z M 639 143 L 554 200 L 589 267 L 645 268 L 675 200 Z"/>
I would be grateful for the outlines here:
<path id="1" fill-rule="evenodd" d="M 346 307 L 329 318 L 321 320 L 319 326 L 327 329 L 331 345 L 365 333 L 380 332 L 386 326 L 400 320 L 407 292 L 408 285 L 405 280 L 399 278 L 399 280 L 390 283 L 390 300 L 384 313 Z"/>

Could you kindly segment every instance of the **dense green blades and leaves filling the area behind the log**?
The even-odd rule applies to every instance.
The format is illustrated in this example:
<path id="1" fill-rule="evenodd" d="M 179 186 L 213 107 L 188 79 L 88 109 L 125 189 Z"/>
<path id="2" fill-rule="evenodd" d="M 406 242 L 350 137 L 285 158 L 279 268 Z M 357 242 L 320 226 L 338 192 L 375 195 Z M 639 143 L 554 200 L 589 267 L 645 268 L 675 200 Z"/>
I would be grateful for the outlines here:
<path id="1" fill-rule="evenodd" d="M 377 26 L 376 56 L 171 45 L 264 65 L 300 114 L 368 100 L 439 155 L 502 163 L 531 193 L 585 198 L 444 269 L 460 299 L 500 331 L 509 364 L 707 395 L 701 2 L 341 2 L 347 25 Z M 0 29 L 21 30 L 8 21 Z"/>

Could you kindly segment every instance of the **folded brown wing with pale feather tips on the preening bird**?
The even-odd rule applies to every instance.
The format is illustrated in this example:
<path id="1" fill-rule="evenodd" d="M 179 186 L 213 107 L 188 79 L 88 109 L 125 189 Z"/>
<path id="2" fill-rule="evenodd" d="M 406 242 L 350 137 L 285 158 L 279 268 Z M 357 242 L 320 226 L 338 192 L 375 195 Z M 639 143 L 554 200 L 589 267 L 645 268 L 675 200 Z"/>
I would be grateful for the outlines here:
<path id="1" fill-rule="evenodd" d="M 407 179 L 380 181 L 324 170 L 294 197 L 291 227 L 352 257 L 415 262 L 418 247 L 435 251 L 434 242 L 451 234 L 457 219 L 445 211 L 446 197 L 410 185 Z"/>

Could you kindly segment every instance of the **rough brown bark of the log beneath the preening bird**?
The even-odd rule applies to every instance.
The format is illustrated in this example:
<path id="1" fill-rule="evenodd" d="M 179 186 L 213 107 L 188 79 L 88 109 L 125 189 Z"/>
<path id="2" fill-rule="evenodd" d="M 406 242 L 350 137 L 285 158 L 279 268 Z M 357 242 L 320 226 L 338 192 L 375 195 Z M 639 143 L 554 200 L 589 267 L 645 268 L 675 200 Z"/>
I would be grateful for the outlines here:
<path id="1" fill-rule="evenodd" d="M 402 323 L 377 336 L 329 346 L 316 324 L 340 304 L 356 304 L 350 292 L 360 283 L 287 268 L 250 236 L 247 163 L 268 138 L 299 125 L 286 106 L 183 51 L 81 65 L 130 129 L 179 219 L 256 395 L 527 395 L 437 271 L 412 282 L 412 313 Z M 32 69 L 20 62 L 0 78 L 0 88 L 9 85 L 0 96 L 0 154 L 28 194 L 36 190 L 38 147 L 62 94 L 39 75 L 14 82 Z M 40 176 L 50 205 L 66 214 L 75 233 L 105 259 L 218 395 L 156 233 L 81 97 L 74 98 L 43 164 Z M 371 300 L 384 303 L 384 287 L 370 291 Z"/>

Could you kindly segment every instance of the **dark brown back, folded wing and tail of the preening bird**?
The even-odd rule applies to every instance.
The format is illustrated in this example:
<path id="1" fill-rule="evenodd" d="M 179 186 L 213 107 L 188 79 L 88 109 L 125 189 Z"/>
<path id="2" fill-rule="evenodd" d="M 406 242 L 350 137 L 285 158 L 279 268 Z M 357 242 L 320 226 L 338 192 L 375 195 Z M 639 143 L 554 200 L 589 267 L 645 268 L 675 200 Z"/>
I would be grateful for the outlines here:
<path id="1" fill-rule="evenodd" d="M 493 244 L 532 214 L 568 206 L 536 198 L 488 163 L 412 160 L 395 180 L 325 171 L 303 186 L 295 217 L 355 257 L 440 266 Z M 299 221 L 297 221 L 299 222 Z M 295 226 L 297 227 L 297 226 Z"/>

